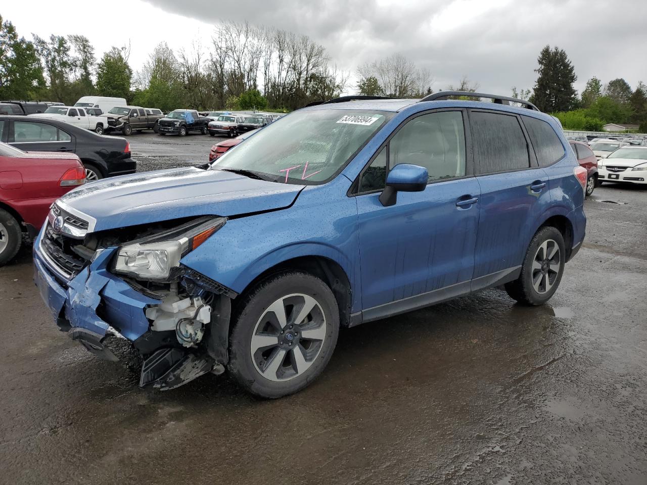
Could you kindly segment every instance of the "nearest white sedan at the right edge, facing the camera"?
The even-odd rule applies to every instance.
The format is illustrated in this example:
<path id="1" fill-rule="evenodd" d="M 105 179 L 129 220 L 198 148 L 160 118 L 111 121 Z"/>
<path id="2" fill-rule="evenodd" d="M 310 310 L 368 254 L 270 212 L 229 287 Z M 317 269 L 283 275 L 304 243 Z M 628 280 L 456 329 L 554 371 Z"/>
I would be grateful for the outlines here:
<path id="1" fill-rule="evenodd" d="M 647 184 L 647 147 L 620 147 L 598 162 L 598 183 Z"/>

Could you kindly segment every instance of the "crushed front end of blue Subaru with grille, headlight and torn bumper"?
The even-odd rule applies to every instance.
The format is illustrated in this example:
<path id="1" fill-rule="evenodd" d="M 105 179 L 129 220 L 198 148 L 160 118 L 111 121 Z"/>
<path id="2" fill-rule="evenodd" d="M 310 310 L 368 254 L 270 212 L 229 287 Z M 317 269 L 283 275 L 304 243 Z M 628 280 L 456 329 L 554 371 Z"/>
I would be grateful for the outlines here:
<path id="1" fill-rule="evenodd" d="M 34 242 L 34 282 L 58 327 L 118 360 L 126 339 L 142 357 L 140 385 L 173 389 L 228 361 L 236 292 L 180 262 L 226 219 L 206 216 L 94 232 L 61 201 Z"/>

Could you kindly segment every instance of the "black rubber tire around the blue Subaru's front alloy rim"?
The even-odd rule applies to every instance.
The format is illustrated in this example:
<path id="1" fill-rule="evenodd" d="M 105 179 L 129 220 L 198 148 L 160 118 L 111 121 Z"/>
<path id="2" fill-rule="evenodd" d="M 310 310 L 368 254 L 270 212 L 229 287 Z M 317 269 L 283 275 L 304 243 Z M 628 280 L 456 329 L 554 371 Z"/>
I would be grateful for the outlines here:
<path id="1" fill-rule="evenodd" d="M 270 352 L 270 354 L 267 356 L 267 360 L 262 360 L 263 357 L 258 354 L 261 350 L 257 350 L 255 354 L 252 354 L 251 349 L 252 338 L 254 335 L 258 335 L 256 327 L 261 325 L 261 318 L 265 316 L 273 303 L 276 303 L 283 297 L 292 298 L 294 294 L 311 297 L 316 301 L 318 307 L 316 310 L 313 308 L 313 312 L 306 316 L 305 320 L 303 320 L 305 323 L 302 325 L 290 321 L 291 318 L 296 318 L 296 315 L 293 316 L 292 313 L 288 314 L 286 318 L 287 324 L 283 327 L 285 335 L 281 333 L 283 336 L 275 336 L 275 338 L 282 339 L 280 343 L 283 347 L 272 347 L 270 350 L 263 350 L 263 352 Z M 302 299 L 301 301 L 305 300 Z M 298 303 L 292 307 L 292 310 L 296 311 L 296 308 L 298 308 Z M 319 319 L 322 319 L 323 316 L 323 321 L 318 327 L 318 330 L 322 332 L 323 340 L 321 343 L 316 344 L 316 347 L 312 347 L 312 341 L 309 342 L 307 339 L 300 341 L 303 336 L 298 338 L 293 337 L 296 340 L 294 342 L 296 345 L 294 347 L 287 347 L 288 333 L 300 330 L 303 325 L 307 328 L 311 323 L 316 323 L 315 317 L 313 316 L 314 312 L 318 312 Z M 337 336 L 339 334 L 339 310 L 333 292 L 331 292 L 330 288 L 323 281 L 307 273 L 287 272 L 269 277 L 250 290 L 243 297 L 242 301 L 236 305 L 236 308 L 234 308 L 232 324 L 230 360 L 227 365 L 230 376 L 249 393 L 261 398 L 274 399 L 300 391 L 321 374 L 323 368 L 330 360 L 337 342 Z M 294 325 L 294 329 L 296 330 L 292 329 L 292 325 Z M 278 334 L 276 327 L 272 327 L 270 330 Z M 305 331 L 304 329 L 303 332 Z M 298 332 L 296 332 L 296 335 L 298 336 Z M 305 347 L 305 345 L 308 345 L 308 347 Z M 261 347 L 261 349 L 263 348 Z M 259 365 L 271 367 L 270 364 L 277 355 L 272 352 L 278 352 L 281 349 L 285 349 L 285 352 L 281 354 L 285 357 L 281 357 L 281 363 L 283 365 L 278 365 L 279 370 L 274 372 L 274 377 L 278 378 L 280 374 L 287 375 L 287 380 L 270 380 L 261 374 L 254 356 L 261 359 Z M 311 352 L 312 349 L 315 353 L 314 357 L 311 357 L 312 360 L 303 361 L 307 365 L 305 370 L 303 372 L 297 372 L 295 367 L 298 367 L 298 365 L 296 361 L 292 360 L 294 359 L 292 357 L 294 354 L 291 352 L 299 350 L 299 354 L 303 355 L 302 349 L 305 352 Z M 283 374 L 284 369 L 287 374 Z M 265 370 L 267 370 L 267 367 L 265 367 Z M 294 375 L 290 376 L 289 372 L 292 372 Z"/>

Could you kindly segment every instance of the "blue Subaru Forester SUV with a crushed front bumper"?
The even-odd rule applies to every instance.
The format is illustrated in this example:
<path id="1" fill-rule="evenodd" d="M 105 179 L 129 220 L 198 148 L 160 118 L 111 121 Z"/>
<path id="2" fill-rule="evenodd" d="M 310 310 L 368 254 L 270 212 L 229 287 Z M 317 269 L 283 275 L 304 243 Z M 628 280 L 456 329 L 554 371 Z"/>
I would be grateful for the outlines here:
<path id="1" fill-rule="evenodd" d="M 34 244 L 35 280 L 88 350 L 137 349 L 140 385 L 228 371 L 276 398 L 322 372 L 340 325 L 499 285 L 545 303 L 584 239 L 585 184 L 531 103 L 338 98 L 210 166 L 71 191 Z"/>

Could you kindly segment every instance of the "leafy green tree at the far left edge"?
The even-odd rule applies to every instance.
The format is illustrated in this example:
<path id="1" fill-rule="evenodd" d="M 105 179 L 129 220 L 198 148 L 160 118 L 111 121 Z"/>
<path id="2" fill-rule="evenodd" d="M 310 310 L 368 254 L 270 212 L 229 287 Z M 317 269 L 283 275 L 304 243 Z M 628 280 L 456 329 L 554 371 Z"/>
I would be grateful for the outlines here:
<path id="1" fill-rule="evenodd" d="M 19 38 L 14 25 L 0 16 L 0 99 L 38 98 L 44 87 L 34 44 Z"/>

